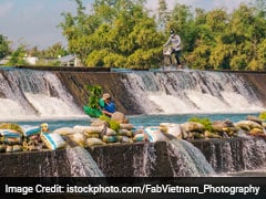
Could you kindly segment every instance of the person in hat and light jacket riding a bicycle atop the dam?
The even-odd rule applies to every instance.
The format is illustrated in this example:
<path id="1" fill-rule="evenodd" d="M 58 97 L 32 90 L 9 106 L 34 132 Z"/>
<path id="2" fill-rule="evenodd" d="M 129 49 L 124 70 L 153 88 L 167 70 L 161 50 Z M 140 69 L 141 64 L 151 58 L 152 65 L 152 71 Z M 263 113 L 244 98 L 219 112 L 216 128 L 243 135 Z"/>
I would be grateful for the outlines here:
<path id="1" fill-rule="evenodd" d="M 172 45 L 172 53 L 175 54 L 175 60 L 177 62 L 177 69 L 181 69 L 181 61 L 180 61 L 180 55 L 181 55 L 181 38 L 178 34 L 175 34 L 173 30 L 170 32 L 170 38 L 167 42 L 164 44 L 164 46 L 167 46 L 168 44 Z"/>

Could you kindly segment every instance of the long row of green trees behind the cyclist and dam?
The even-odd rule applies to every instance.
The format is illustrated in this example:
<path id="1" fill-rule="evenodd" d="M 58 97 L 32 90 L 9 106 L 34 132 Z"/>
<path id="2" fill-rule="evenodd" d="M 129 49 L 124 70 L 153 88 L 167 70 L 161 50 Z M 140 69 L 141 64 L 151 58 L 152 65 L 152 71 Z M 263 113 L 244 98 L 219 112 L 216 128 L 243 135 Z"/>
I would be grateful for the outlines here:
<path id="1" fill-rule="evenodd" d="M 88 10 L 82 0 L 74 1 L 76 13 L 63 12 L 59 27 L 68 53 L 85 66 L 160 67 L 163 44 L 174 30 L 192 69 L 266 70 L 265 0 L 232 12 L 180 3 L 168 8 L 165 0 L 156 11 L 147 10 L 145 0 L 94 0 Z"/>

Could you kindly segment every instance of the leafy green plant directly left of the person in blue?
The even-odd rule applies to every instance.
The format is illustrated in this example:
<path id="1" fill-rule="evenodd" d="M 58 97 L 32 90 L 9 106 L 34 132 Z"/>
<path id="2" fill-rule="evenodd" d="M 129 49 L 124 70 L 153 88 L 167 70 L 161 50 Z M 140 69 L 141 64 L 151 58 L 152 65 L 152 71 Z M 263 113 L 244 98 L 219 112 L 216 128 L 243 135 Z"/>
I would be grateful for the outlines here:
<path id="1" fill-rule="evenodd" d="M 102 95 L 102 87 L 100 85 L 85 85 L 84 87 L 89 94 L 88 106 L 91 108 L 100 109 L 99 101 Z"/>

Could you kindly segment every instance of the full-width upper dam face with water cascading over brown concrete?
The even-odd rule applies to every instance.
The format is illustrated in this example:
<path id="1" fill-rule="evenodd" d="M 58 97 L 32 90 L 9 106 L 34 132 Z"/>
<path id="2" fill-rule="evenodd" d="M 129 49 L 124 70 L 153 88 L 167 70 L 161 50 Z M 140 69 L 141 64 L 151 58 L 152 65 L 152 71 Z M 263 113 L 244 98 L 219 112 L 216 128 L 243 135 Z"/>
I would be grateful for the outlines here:
<path id="1" fill-rule="evenodd" d="M 0 70 L 0 119 L 85 117 L 84 85 L 101 85 L 125 114 L 265 109 L 265 74 L 227 72 L 58 72 Z"/>

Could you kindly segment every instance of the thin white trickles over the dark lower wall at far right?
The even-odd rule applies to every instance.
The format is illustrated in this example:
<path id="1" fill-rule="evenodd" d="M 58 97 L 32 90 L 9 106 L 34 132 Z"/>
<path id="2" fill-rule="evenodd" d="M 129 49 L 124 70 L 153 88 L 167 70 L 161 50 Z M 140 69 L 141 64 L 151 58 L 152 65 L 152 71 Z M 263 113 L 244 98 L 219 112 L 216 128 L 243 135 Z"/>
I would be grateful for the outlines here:
<path id="1" fill-rule="evenodd" d="M 203 153 L 207 155 L 209 164 L 218 172 L 266 167 L 266 143 L 262 138 L 246 136 L 234 142 L 209 142 Z"/>

